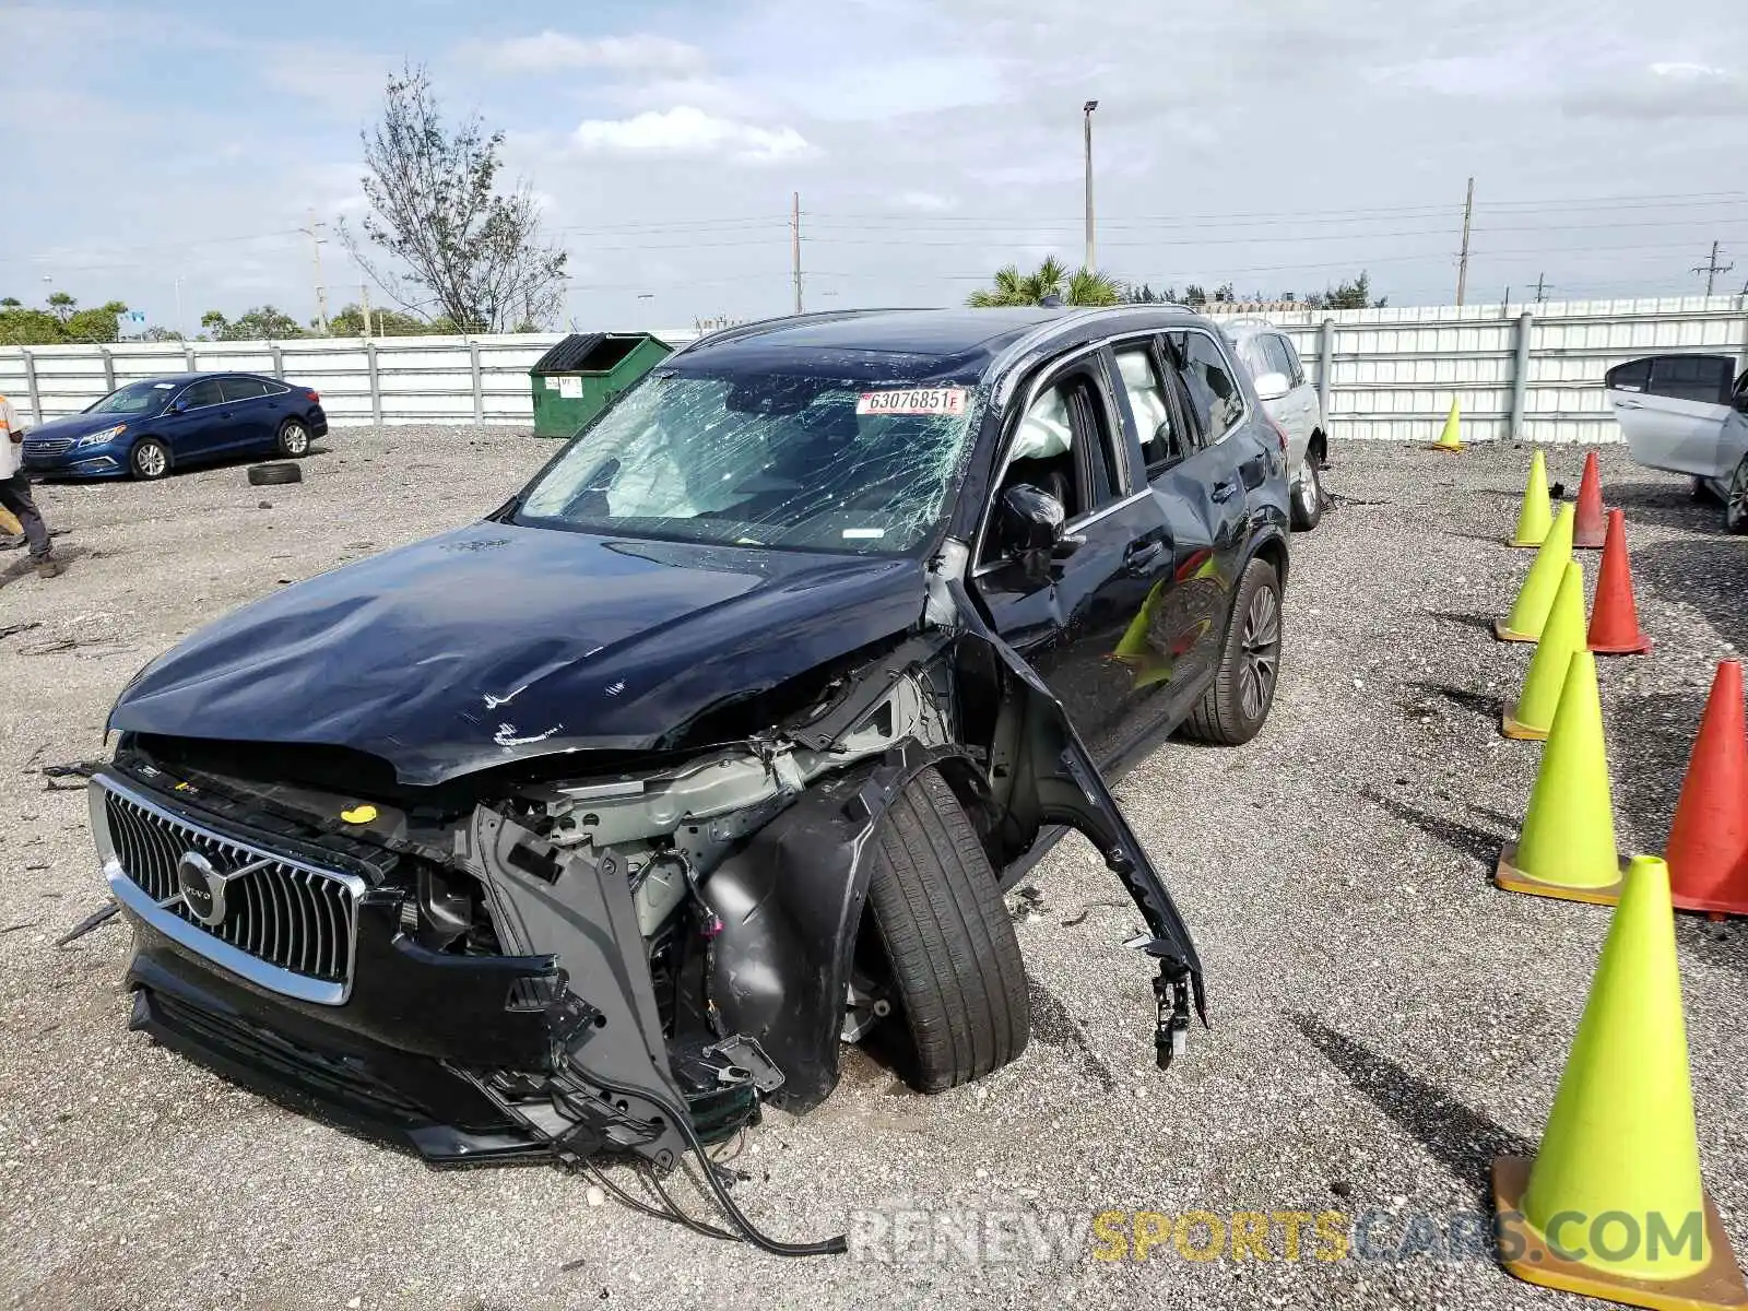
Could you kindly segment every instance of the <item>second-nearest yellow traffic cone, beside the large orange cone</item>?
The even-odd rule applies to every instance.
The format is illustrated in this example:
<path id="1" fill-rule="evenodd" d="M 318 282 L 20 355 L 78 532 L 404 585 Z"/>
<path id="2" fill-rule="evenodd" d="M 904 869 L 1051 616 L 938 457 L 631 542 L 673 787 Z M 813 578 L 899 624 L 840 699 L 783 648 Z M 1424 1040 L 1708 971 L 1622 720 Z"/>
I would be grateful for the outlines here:
<path id="1" fill-rule="evenodd" d="M 1523 832 L 1500 851 L 1493 883 L 1568 902 L 1612 904 L 1620 895 L 1603 701 L 1596 692 L 1596 657 L 1582 647 L 1566 662 Z"/>

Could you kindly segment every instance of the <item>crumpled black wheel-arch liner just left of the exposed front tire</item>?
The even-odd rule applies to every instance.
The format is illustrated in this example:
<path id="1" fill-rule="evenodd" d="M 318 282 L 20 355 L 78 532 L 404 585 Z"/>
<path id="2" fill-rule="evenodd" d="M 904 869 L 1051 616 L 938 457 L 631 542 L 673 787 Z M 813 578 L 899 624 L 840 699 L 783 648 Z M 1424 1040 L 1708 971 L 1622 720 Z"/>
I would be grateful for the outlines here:
<path id="1" fill-rule="evenodd" d="M 773 1096 L 811 1110 L 837 1086 L 839 1033 L 869 891 L 869 839 L 904 787 L 930 766 L 961 801 L 981 795 L 954 748 L 905 741 L 815 783 L 724 860 L 704 884 L 722 918 L 706 965 L 713 1028 L 759 1040 L 783 1072 Z"/>

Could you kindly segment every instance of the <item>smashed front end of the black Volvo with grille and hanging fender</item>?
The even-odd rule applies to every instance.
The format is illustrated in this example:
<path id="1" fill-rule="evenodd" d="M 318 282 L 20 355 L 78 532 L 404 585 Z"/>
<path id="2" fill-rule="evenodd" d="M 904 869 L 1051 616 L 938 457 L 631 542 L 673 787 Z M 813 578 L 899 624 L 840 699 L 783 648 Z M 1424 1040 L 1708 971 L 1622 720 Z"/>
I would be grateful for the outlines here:
<path id="1" fill-rule="evenodd" d="M 1061 704 L 940 561 L 919 629 L 795 701 L 715 746 L 371 795 L 299 748 L 128 732 L 91 804 L 140 933 L 136 1024 L 434 1162 L 668 1168 L 764 1099 L 832 1091 L 883 1014 L 855 975 L 871 839 L 935 769 L 996 871 L 1056 827 L 1101 851 L 1171 1061 L 1190 1005 L 1206 1019 L 1189 932 Z"/>

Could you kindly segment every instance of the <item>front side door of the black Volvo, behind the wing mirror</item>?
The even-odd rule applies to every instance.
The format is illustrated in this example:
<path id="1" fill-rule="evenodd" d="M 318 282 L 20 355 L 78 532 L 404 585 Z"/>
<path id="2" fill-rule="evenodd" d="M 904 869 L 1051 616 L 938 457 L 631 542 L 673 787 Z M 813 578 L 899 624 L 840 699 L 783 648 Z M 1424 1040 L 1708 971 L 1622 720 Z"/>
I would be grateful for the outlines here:
<path id="1" fill-rule="evenodd" d="M 1003 434 L 996 507 L 1019 482 L 1065 493 L 1072 549 L 1040 577 L 1040 561 L 1002 542 L 993 512 L 972 579 L 995 629 L 1038 671 L 1101 766 L 1150 718 L 1157 680 L 1140 676 L 1120 652 L 1175 558 L 1117 392 L 1103 348 L 1082 350 L 1030 385 Z"/>

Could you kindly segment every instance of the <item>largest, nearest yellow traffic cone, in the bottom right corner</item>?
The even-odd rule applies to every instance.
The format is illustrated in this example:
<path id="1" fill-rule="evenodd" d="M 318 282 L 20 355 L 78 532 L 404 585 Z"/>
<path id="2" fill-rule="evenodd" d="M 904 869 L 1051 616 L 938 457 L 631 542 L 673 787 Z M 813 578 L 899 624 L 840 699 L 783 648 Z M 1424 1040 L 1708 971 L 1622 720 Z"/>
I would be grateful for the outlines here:
<path id="1" fill-rule="evenodd" d="M 1498 1252 L 1629 1306 L 1748 1308 L 1699 1175 L 1669 867 L 1634 857 L 1535 1161 L 1493 1161 Z"/>

